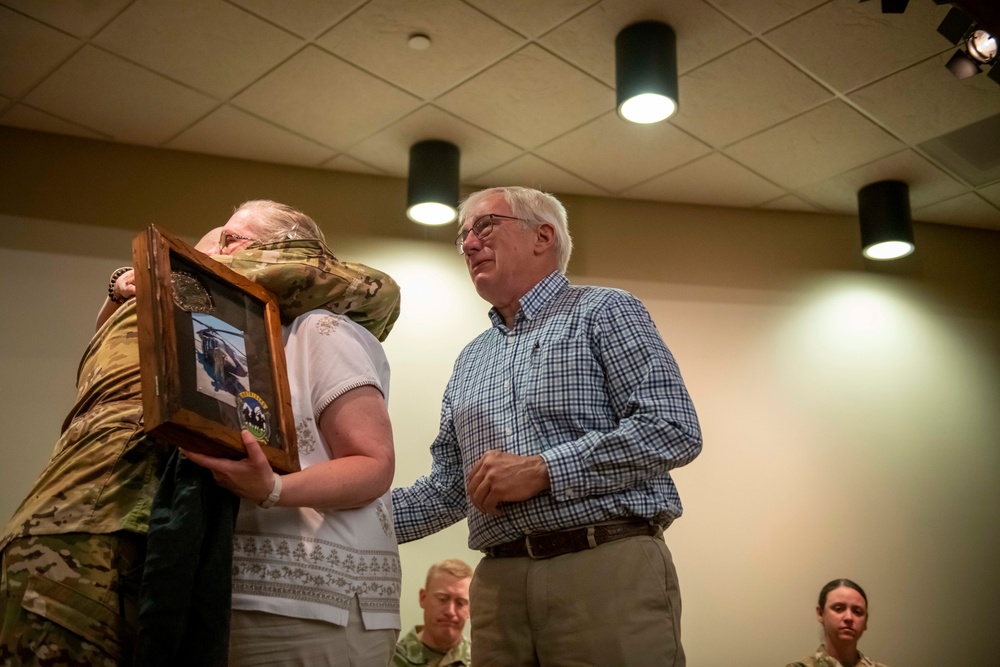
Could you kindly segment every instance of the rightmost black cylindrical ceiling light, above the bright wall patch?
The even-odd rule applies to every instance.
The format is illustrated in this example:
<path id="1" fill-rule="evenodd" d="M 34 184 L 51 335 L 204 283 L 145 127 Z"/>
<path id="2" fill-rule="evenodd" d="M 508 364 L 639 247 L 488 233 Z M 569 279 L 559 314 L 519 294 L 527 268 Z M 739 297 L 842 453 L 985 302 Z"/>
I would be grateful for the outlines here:
<path id="1" fill-rule="evenodd" d="M 910 187 L 878 181 L 858 190 L 862 253 L 868 259 L 898 259 L 913 252 Z"/>

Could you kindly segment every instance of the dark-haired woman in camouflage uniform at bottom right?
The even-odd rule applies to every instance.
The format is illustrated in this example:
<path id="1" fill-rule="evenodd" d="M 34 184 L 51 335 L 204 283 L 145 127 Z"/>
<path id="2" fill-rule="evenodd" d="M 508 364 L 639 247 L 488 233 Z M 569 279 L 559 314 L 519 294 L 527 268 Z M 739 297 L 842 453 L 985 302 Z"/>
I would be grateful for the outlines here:
<path id="1" fill-rule="evenodd" d="M 868 628 L 868 597 L 850 579 L 834 579 L 819 593 L 816 616 L 825 641 L 816 652 L 787 667 L 888 667 L 858 650 Z"/>

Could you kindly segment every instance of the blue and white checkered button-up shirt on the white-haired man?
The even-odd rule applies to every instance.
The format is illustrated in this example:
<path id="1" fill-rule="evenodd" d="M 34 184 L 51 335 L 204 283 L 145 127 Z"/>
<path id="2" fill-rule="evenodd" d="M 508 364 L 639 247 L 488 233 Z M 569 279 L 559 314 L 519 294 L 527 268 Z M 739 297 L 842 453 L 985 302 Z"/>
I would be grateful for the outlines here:
<path id="1" fill-rule="evenodd" d="M 514 327 L 462 350 L 431 445 L 430 475 L 393 489 L 396 537 L 416 540 L 469 518 L 469 547 L 621 518 L 664 526 L 681 515 L 670 469 L 701 451 L 694 405 L 645 306 L 628 292 L 570 285 L 558 272 L 522 299 Z M 489 449 L 540 455 L 549 491 L 468 502 L 465 480 Z"/>

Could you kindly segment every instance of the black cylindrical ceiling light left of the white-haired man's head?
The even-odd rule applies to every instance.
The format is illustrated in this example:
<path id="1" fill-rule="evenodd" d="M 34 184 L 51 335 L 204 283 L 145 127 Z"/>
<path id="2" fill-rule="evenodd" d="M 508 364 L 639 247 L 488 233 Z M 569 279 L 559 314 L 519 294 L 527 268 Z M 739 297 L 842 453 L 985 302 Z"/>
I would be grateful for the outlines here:
<path id="1" fill-rule="evenodd" d="M 424 225 L 444 225 L 458 215 L 458 146 L 428 139 L 410 147 L 406 217 Z"/>

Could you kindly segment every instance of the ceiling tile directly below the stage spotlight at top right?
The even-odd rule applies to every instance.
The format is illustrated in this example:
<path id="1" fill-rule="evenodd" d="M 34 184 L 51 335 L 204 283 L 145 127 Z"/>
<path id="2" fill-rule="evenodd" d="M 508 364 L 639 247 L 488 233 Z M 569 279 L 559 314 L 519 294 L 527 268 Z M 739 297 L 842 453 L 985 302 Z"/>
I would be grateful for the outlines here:
<path id="1" fill-rule="evenodd" d="M 929 58 L 848 97 L 911 144 L 997 113 L 1000 85 L 981 75 L 955 78 L 945 67 L 951 54 Z"/>

